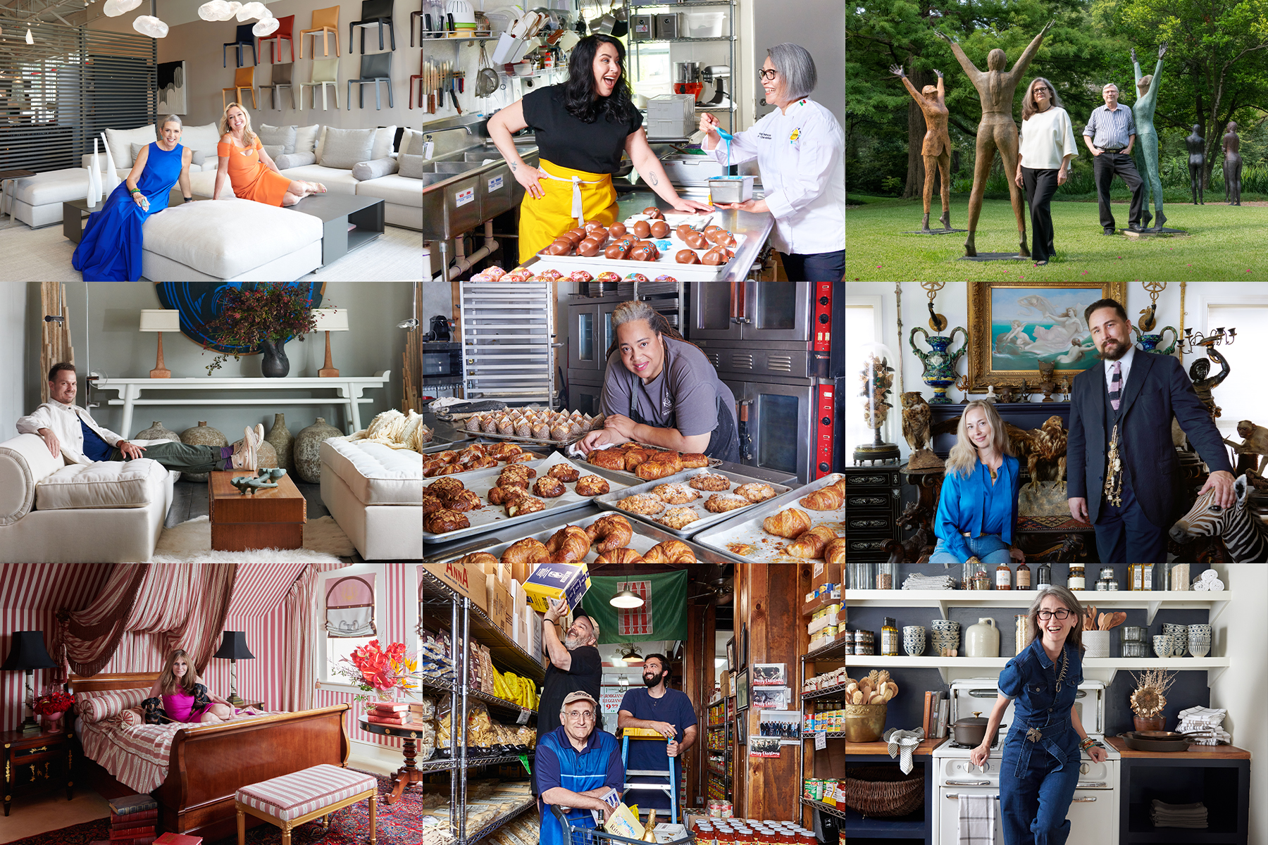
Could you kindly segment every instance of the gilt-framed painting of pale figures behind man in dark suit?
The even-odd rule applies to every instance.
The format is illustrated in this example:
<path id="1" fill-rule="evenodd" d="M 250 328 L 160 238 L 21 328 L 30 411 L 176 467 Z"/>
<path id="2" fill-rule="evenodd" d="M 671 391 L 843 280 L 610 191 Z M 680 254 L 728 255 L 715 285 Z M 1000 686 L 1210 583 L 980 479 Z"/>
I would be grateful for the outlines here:
<path id="1" fill-rule="evenodd" d="M 1122 281 L 970 281 L 969 393 L 989 385 L 1035 386 L 1038 361 L 1052 361 L 1058 379 L 1101 362 L 1083 310 L 1098 299 L 1127 308 Z"/>

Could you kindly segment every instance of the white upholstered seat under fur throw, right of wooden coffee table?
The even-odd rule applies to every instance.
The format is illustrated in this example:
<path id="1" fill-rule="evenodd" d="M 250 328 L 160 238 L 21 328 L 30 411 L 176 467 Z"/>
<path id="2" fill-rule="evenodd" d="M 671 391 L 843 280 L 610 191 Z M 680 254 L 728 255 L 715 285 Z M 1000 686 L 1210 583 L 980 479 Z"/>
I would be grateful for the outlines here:
<path id="1" fill-rule="evenodd" d="M 422 455 L 333 437 L 321 443 L 321 500 L 361 557 L 422 559 Z"/>

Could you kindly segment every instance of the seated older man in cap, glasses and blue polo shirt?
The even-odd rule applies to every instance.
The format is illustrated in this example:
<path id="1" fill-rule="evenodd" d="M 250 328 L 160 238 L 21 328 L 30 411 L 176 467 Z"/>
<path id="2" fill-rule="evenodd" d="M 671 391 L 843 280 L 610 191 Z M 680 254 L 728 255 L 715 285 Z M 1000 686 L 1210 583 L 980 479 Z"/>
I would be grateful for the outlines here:
<path id="1" fill-rule="evenodd" d="M 559 709 L 559 727 L 538 740 L 536 773 L 543 804 L 558 804 L 574 827 L 593 827 L 591 810 L 606 822 L 615 803 L 604 798 L 625 788 L 625 768 L 616 737 L 595 730 L 598 702 L 582 690 L 568 693 Z M 563 825 L 541 808 L 539 845 L 567 845 Z"/>

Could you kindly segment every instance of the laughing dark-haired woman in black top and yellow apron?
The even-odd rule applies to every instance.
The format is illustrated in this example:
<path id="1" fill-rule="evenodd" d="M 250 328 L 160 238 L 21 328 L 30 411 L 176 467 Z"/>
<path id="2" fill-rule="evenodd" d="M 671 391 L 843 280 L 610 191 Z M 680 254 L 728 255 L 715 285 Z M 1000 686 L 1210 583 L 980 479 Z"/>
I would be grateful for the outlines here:
<path id="1" fill-rule="evenodd" d="M 540 168 L 515 149 L 512 132 L 533 127 Z M 568 81 L 524 95 L 488 120 L 488 137 L 524 185 L 520 204 L 520 261 L 527 261 L 560 232 L 598 220 L 616 220 L 612 174 L 621 152 L 657 195 L 680 212 L 713 206 L 682 199 L 647 143 L 643 115 L 630 99 L 625 46 L 610 35 L 587 35 L 568 58 Z M 545 181 L 543 181 L 545 180 Z M 571 186 L 569 186 L 571 184 Z"/>

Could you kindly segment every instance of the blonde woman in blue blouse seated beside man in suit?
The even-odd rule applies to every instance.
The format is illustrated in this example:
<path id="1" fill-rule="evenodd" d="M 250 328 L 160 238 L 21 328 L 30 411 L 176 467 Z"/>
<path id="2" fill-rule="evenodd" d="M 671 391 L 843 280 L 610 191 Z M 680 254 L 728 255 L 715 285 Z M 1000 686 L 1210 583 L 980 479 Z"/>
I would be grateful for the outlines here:
<path id="1" fill-rule="evenodd" d="M 1019 489 L 1018 461 L 995 405 L 970 402 L 947 456 L 933 524 L 938 545 L 929 562 L 979 562 L 994 580 L 995 568 L 1009 557 L 1025 560 L 1026 555 L 1012 545 Z"/>

